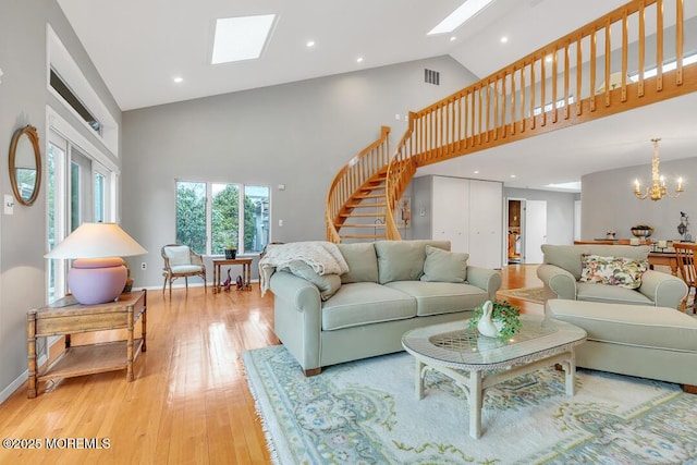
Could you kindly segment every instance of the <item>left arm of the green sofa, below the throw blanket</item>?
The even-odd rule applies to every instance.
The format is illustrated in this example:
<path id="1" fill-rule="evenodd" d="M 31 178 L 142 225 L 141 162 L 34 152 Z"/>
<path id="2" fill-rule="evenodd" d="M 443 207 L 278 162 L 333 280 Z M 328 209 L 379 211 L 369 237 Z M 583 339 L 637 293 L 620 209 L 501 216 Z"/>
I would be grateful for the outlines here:
<path id="1" fill-rule="evenodd" d="M 273 330 L 307 374 L 321 367 L 321 299 L 311 282 L 283 271 L 271 276 Z"/>

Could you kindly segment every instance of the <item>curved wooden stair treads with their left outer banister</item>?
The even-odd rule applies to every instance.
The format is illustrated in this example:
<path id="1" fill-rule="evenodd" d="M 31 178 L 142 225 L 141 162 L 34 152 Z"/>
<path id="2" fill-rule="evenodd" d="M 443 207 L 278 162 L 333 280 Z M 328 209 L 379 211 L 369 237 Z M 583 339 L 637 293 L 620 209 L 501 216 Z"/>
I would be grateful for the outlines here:
<path id="1" fill-rule="evenodd" d="M 384 172 L 390 159 L 390 127 L 382 126 L 380 137 L 360 150 L 358 155 L 344 166 L 334 176 L 325 207 L 327 241 L 342 242 L 343 237 L 360 237 L 364 234 L 342 235 L 339 230 L 351 218 L 378 218 L 384 213 L 354 213 L 357 208 L 368 207 L 374 210 L 384 208 L 380 200 L 383 195 L 372 192 L 384 188 Z M 356 223 L 353 228 L 367 227 Z"/>

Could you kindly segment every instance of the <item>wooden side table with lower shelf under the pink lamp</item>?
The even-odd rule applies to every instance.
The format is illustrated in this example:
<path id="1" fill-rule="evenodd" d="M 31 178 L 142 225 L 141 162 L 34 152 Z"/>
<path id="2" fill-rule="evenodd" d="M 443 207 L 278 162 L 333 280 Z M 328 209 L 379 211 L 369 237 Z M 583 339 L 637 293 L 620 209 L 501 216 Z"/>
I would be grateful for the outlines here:
<path id="1" fill-rule="evenodd" d="M 142 336 L 134 338 L 135 322 L 140 319 Z M 27 396 L 36 397 L 38 383 L 53 378 L 72 378 L 103 371 L 126 369 L 126 381 L 133 381 L 133 363 L 146 351 L 147 292 L 121 294 L 114 302 L 82 305 L 72 296 L 27 313 L 29 380 Z M 125 341 L 71 346 L 71 334 L 125 329 Z M 38 372 L 36 339 L 65 336 L 65 351 Z"/>

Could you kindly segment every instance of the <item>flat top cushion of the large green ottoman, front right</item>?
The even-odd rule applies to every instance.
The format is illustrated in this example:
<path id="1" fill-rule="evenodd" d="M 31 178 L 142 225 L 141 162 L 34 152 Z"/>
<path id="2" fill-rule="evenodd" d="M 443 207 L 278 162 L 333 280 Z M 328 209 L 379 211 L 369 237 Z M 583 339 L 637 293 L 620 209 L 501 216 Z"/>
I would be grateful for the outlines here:
<path id="1" fill-rule="evenodd" d="M 547 301 L 552 318 L 586 330 L 588 340 L 697 352 L 697 320 L 667 307 Z"/>

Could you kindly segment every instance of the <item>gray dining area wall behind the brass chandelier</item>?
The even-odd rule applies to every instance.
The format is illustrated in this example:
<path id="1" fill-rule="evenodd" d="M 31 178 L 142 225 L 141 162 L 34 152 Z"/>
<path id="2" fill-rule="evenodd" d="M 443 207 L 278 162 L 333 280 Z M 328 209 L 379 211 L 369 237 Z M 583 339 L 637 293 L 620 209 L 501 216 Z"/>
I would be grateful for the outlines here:
<path id="1" fill-rule="evenodd" d="M 685 192 L 675 199 L 651 201 L 634 196 L 634 180 L 641 181 L 645 189 L 651 178 L 651 152 L 647 149 L 648 164 L 587 174 L 582 179 L 582 238 L 603 237 L 614 230 L 617 238 L 633 237 L 635 224 L 653 227 L 655 240 L 680 237 L 680 212 L 684 211 L 693 222 L 688 228 L 693 238 L 697 236 L 697 158 L 676 161 L 661 160 L 660 172 L 665 175 L 669 193 L 683 176 Z M 596 208 L 601 206 L 601 208 Z"/>

